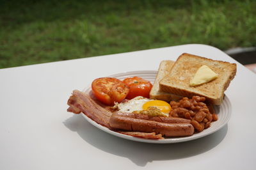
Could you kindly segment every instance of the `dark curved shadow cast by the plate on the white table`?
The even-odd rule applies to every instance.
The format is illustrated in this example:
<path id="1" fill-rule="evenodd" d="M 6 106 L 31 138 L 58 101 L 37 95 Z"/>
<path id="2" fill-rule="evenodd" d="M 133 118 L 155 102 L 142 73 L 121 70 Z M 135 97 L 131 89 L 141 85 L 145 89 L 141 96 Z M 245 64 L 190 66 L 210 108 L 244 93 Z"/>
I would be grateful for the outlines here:
<path id="1" fill-rule="evenodd" d="M 217 146 L 227 134 L 228 126 L 214 134 L 184 143 L 150 144 L 129 141 L 103 132 L 84 120 L 82 115 L 73 115 L 63 124 L 77 132 L 86 143 L 108 153 L 129 158 L 138 166 L 146 166 L 154 160 L 175 160 L 204 153 Z"/>

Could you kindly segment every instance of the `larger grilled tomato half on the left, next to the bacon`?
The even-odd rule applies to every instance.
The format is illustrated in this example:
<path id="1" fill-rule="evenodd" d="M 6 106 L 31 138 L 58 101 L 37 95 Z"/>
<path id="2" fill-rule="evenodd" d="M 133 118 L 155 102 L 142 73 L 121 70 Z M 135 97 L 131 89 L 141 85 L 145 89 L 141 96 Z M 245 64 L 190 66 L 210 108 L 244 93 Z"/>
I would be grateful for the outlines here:
<path id="1" fill-rule="evenodd" d="M 92 82 L 93 95 L 102 103 L 113 105 L 122 102 L 129 92 L 124 82 L 113 77 L 101 77 Z"/>

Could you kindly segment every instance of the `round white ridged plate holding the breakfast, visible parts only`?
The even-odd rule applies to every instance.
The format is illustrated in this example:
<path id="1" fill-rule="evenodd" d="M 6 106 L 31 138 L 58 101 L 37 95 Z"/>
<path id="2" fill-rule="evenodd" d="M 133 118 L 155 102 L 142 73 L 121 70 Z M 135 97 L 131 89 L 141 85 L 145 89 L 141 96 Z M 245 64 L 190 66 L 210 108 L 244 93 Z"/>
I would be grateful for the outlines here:
<path id="1" fill-rule="evenodd" d="M 115 75 L 110 75 L 109 77 L 116 77 L 117 79 L 122 80 L 127 77 L 138 76 L 138 77 L 142 77 L 143 79 L 146 79 L 146 80 L 152 82 L 152 84 L 153 84 L 154 80 L 156 78 L 156 75 L 157 75 L 156 71 L 138 71 L 138 72 L 116 73 Z M 87 88 L 87 89 L 84 89 L 84 92 L 90 93 L 91 90 L 92 90 L 91 88 Z M 224 125 L 226 125 L 226 123 L 228 122 L 228 120 L 230 119 L 230 116 L 231 116 L 231 104 L 230 104 L 230 100 L 228 100 L 227 96 L 225 96 L 223 103 L 218 107 L 214 107 L 214 109 L 215 109 L 216 113 L 218 114 L 218 121 L 212 122 L 211 127 L 203 130 L 200 133 L 196 133 L 196 134 L 193 134 L 188 137 L 166 137 L 165 139 L 159 139 L 159 140 L 143 139 L 143 138 L 139 138 L 139 137 L 132 137 L 130 135 L 120 134 L 120 133 L 114 132 L 112 130 L 109 130 L 106 127 L 103 127 L 102 125 L 99 125 L 95 121 L 88 118 L 85 114 L 82 114 L 82 115 L 86 120 L 88 120 L 90 123 L 92 123 L 92 125 L 94 125 L 95 127 L 100 128 L 104 132 L 108 132 L 109 134 L 116 135 L 116 136 L 122 137 L 124 139 L 129 139 L 132 141 L 138 141 L 138 142 L 143 142 L 143 143 L 180 143 L 180 142 L 184 142 L 184 141 L 191 141 L 193 139 L 198 139 L 200 137 L 204 137 L 205 135 L 212 134 L 213 132 L 220 130 L 220 128 L 222 128 Z"/>

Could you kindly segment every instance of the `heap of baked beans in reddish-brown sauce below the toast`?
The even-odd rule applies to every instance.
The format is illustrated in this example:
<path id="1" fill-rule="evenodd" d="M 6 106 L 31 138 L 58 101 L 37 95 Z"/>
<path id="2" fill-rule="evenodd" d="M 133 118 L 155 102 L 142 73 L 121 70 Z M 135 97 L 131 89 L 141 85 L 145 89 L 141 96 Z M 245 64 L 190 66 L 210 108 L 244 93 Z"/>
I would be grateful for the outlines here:
<path id="1" fill-rule="evenodd" d="M 170 116 L 191 120 L 197 132 L 209 128 L 212 121 L 218 120 L 212 105 L 205 104 L 205 97 L 184 97 L 179 102 L 170 102 L 172 110 Z"/>

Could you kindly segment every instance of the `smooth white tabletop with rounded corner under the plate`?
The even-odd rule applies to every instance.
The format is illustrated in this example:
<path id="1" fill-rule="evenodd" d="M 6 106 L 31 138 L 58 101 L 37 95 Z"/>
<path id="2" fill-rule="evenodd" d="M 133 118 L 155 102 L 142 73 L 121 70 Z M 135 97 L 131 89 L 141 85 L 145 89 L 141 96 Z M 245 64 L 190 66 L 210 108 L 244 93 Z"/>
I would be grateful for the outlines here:
<path id="1" fill-rule="evenodd" d="M 237 63 L 225 94 L 232 117 L 184 143 L 121 139 L 67 112 L 73 89 L 114 73 L 157 70 L 183 52 L 237 63 L 208 45 L 180 45 L 0 70 L 0 169 L 255 169 L 256 74 Z"/>

